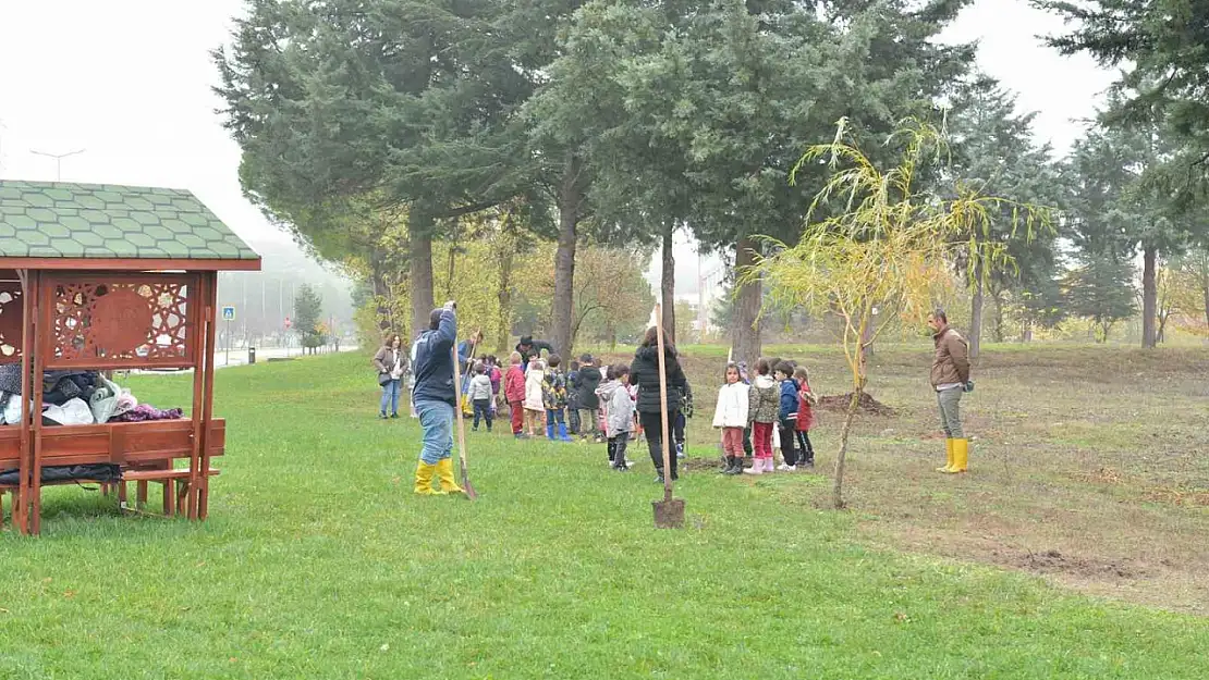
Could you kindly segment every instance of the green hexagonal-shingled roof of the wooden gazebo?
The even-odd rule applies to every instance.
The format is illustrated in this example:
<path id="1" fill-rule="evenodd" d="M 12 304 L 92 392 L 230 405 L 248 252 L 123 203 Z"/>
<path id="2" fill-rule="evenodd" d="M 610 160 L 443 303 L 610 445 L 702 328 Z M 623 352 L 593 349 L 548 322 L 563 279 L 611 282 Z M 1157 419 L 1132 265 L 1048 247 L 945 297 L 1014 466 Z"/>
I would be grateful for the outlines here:
<path id="1" fill-rule="evenodd" d="M 260 258 L 187 191 L 8 180 L 0 257 Z"/>

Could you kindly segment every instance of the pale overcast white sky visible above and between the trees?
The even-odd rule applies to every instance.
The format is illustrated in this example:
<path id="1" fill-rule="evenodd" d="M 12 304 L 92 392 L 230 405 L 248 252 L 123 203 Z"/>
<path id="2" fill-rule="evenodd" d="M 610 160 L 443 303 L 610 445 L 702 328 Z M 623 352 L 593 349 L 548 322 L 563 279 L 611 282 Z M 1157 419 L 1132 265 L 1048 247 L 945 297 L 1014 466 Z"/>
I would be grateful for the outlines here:
<path id="1" fill-rule="evenodd" d="M 209 51 L 229 40 L 242 0 L 0 0 L 0 179 L 187 188 L 250 242 L 290 239 L 244 199 L 239 149 L 215 112 Z M 47 27 L 54 27 L 48 30 Z M 1025 0 L 976 0 L 945 34 L 979 41 L 978 68 L 1036 111 L 1034 132 L 1064 152 L 1113 74 L 1060 57 L 1037 35 L 1062 21 Z M 717 257 L 676 244 L 677 296 L 717 292 Z M 551 265 L 553 266 L 553 265 Z M 711 275 L 712 274 L 712 275 Z M 659 280 L 658 255 L 647 275 Z"/>

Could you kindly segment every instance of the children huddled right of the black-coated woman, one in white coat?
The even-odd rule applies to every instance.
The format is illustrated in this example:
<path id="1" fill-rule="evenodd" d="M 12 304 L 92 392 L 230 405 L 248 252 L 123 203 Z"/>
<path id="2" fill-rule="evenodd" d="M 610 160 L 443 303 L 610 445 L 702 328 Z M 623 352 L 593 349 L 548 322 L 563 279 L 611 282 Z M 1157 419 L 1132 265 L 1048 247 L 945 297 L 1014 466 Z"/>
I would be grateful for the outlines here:
<path id="1" fill-rule="evenodd" d="M 794 361 L 760 359 L 756 364 L 754 379 L 748 378 L 746 365 L 728 364 L 725 384 L 718 390 L 713 413 L 713 426 L 722 430 L 727 459 L 719 472 L 773 472 L 773 449 L 776 447 L 783 458 L 777 470 L 793 471 L 798 465 L 814 467 L 810 429 L 816 403 L 806 368 Z M 744 470 L 747 454 L 754 454 L 753 461 Z"/>

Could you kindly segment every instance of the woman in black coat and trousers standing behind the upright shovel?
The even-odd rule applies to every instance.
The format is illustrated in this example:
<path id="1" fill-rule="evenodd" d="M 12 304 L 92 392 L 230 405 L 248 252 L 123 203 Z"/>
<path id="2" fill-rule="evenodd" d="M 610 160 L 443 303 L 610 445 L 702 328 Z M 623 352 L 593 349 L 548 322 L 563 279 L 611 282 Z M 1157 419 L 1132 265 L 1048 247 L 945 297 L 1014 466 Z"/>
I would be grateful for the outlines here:
<path id="1" fill-rule="evenodd" d="M 647 432 L 647 446 L 650 448 L 650 460 L 655 464 L 659 477 L 655 480 L 660 484 L 664 482 L 664 448 L 663 448 L 663 420 L 659 408 L 659 338 L 655 326 L 647 329 L 642 345 L 634 353 L 634 364 L 630 365 L 630 382 L 638 385 L 638 422 L 642 423 L 643 431 Z M 679 412 L 681 397 L 684 394 L 684 371 L 679 361 L 676 360 L 676 348 L 667 342 L 664 336 L 664 366 L 667 379 L 667 423 L 669 428 L 676 422 Z M 672 480 L 678 478 L 676 473 L 676 457 L 671 457 Z"/>

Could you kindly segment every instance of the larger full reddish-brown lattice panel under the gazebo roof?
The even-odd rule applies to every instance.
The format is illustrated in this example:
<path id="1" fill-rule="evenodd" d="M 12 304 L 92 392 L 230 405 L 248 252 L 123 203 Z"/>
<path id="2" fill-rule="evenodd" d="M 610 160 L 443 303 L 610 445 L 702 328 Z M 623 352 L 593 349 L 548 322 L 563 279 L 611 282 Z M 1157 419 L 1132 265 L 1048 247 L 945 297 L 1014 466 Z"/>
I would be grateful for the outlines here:
<path id="1" fill-rule="evenodd" d="M 180 277 L 51 283 L 48 366 L 193 365 L 191 284 Z"/>

